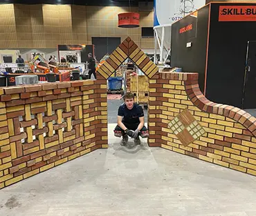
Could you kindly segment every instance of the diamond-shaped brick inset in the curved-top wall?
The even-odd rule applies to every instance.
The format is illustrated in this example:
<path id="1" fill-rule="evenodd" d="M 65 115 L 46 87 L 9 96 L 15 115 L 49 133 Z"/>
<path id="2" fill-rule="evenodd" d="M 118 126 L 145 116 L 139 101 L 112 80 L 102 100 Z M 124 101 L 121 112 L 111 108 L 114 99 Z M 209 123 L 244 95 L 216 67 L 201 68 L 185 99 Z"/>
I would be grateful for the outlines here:
<path id="1" fill-rule="evenodd" d="M 168 124 L 183 146 L 188 146 L 205 133 L 203 127 L 194 119 L 188 109 L 183 110 Z"/>

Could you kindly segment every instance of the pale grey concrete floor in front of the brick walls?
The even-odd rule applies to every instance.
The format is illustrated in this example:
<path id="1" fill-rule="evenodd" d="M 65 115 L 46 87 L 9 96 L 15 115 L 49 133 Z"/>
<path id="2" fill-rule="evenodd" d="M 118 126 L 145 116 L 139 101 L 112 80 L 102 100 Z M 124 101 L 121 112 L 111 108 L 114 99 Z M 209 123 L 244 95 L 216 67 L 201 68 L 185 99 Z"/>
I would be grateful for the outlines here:
<path id="1" fill-rule="evenodd" d="M 115 126 L 108 149 L 0 190 L 0 215 L 256 215 L 256 177 L 149 148 L 146 140 L 120 146 Z"/>

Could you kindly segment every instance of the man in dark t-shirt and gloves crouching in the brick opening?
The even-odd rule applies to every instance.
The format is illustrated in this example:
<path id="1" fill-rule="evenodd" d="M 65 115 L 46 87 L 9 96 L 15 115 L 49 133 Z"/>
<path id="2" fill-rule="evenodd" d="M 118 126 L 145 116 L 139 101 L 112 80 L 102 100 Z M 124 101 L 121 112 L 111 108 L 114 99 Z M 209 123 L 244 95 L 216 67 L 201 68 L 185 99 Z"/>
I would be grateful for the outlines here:
<path id="1" fill-rule="evenodd" d="M 143 108 L 134 103 L 134 94 L 131 92 L 124 95 L 124 100 L 125 103 L 118 108 L 118 126 L 114 130 L 115 136 L 122 137 L 122 146 L 127 144 L 129 137 L 134 138 L 134 143 L 139 145 L 140 137 L 149 136 L 149 132 L 144 126 Z"/>

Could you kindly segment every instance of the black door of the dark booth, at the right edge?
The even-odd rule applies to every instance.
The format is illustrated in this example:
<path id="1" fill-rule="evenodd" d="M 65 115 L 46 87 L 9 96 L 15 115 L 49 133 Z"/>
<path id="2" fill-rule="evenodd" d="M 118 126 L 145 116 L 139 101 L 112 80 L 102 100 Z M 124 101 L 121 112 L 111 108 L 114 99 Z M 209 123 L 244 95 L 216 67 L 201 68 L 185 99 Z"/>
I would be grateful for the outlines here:
<path id="1" fill-rule="evenodd" d="M 256 108 L 256 41 L 248 41 L 244 78 L 244 109 Z"/>

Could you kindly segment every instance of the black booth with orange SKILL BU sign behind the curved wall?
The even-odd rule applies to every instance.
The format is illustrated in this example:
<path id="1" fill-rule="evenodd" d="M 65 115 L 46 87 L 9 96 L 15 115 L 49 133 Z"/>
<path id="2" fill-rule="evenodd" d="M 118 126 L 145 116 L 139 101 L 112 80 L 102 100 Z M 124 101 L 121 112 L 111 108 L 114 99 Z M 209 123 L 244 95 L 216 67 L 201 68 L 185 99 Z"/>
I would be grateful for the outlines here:
<path id="1" fill-rule="evenodd" d="M 256 108 L 256 4 L 209 3 L 174 23 L 171 66 L 199 72 L 211 101 Z"/>

